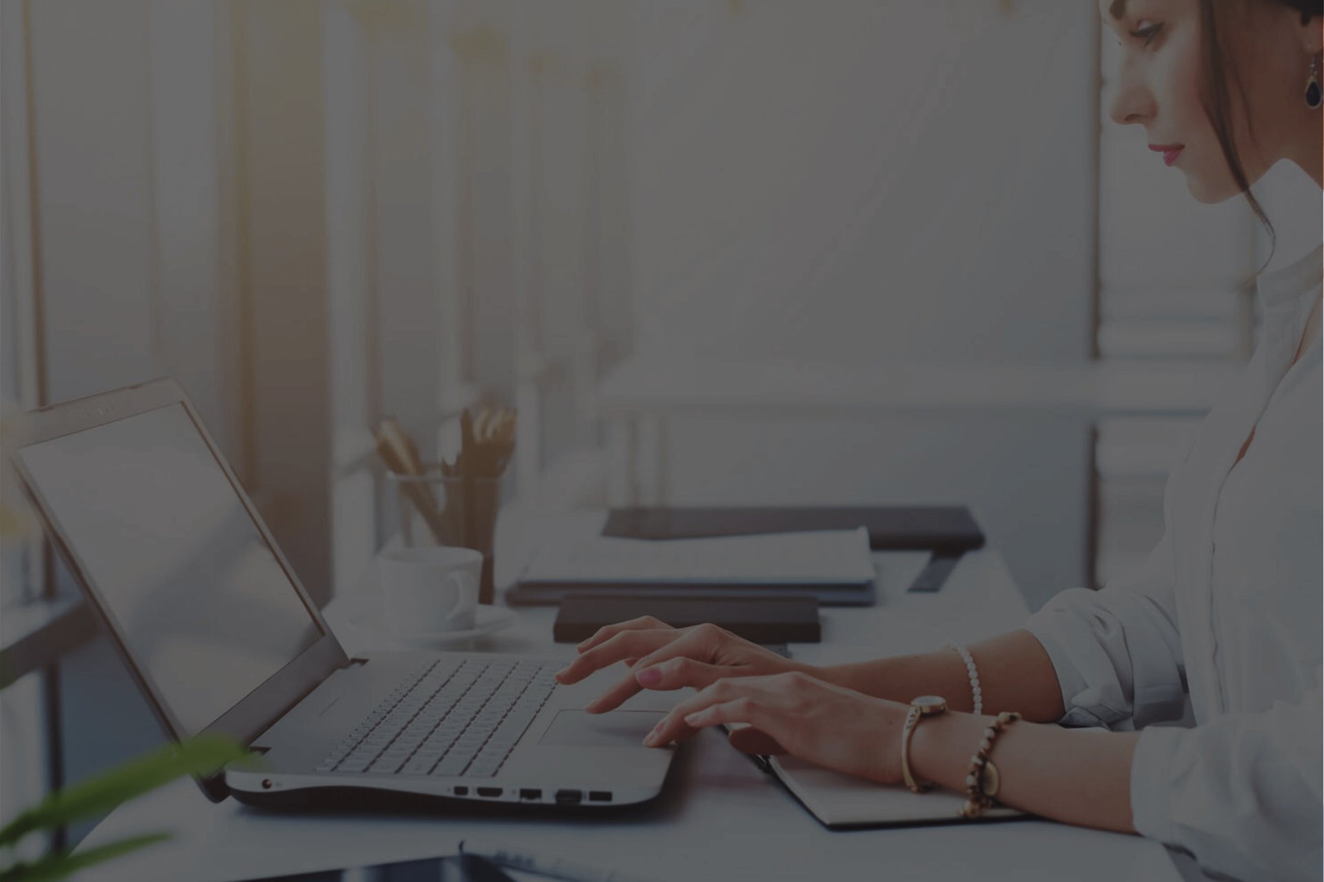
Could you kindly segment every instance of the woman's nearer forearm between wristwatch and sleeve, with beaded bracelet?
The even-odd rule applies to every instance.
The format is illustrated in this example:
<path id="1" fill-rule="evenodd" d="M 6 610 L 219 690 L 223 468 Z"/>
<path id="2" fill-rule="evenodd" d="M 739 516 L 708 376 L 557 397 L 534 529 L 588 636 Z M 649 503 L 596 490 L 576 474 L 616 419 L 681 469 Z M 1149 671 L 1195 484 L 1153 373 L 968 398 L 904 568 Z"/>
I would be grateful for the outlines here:
<path id="1" fill-rule="evenodd" d="M 912 772 L 964 792 L 970 756 L 992 721 L 964 713 L 922 721 L 911 741 Z M 997 801 L 1067 824 L 1133 833 L 1131 760 L 1139 738 L 1139 733 L 1012 723 L 992 751 L 1001 778 Z"/>

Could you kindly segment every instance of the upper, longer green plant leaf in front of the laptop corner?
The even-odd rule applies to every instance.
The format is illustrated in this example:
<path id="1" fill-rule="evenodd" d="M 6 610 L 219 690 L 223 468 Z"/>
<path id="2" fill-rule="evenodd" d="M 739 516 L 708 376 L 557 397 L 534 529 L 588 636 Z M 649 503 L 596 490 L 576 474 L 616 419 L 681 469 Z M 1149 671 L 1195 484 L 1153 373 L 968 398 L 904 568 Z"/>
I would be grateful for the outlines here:
<path id="1" fill-rule="evenodd" d="M 199 735 L 118 766 L 90 780 L 52 793 L 0 829 L 0 845 L 13 845 L 33 830 L 101 815 L 181 775 L 211 775 L 245 755 L 228 735 Z"/>

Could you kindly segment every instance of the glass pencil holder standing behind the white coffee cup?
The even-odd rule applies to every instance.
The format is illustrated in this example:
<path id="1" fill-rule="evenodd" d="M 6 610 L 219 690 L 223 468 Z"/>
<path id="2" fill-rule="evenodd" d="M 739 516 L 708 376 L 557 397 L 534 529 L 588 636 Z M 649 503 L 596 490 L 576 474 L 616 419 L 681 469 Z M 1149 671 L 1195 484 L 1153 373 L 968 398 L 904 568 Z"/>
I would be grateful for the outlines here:
<path id="1" fill-rule="evenodd" d="M 481 551 L 478 602 L 493 603 L 493 543 L 502 479 L 449 476 L 442 475 L 440 465 L 426 465 L 418 475 L 388 472 L 387 480 L 396 499 L 405 547 L 444 545 Z"/>

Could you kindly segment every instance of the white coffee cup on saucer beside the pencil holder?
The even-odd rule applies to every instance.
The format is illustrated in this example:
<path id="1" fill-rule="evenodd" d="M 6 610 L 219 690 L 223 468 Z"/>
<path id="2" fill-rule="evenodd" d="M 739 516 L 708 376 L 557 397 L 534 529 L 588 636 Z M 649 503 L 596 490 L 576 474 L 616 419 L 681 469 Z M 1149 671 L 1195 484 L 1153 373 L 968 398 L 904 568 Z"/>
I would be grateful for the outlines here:
<path id="1" fill-rule="evenodd" d="M 414 546 L 377 561 L 383 621 L 396 633 L 440 633 L 474 627 L 483 555 L 473 549 Z"/>

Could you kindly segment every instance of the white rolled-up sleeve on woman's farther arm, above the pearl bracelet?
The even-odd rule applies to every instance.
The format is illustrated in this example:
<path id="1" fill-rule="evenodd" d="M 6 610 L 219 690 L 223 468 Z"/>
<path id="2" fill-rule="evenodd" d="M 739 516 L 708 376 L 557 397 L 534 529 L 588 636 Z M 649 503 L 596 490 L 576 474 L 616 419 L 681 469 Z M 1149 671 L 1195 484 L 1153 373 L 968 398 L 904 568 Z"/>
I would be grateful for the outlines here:
<path id="1" fill-rule="evenodd" d="M 1186 670 L 1166 536 L 1132 573 L 1100 591 L 1063 591 L 1025 627 L 1053 660 L 1063 723 L 1140 729 L 1181 718 Z"/>

